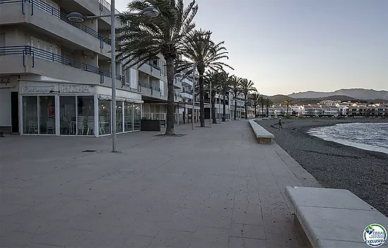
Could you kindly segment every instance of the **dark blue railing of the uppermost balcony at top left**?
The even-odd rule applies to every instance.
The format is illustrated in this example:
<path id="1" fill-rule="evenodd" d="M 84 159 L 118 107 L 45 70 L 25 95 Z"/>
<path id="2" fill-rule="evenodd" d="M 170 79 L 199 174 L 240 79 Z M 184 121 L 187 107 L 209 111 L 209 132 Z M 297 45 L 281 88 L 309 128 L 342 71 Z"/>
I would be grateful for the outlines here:
<path id="1" fill-rule="evenodd" d="M 104 35 L 101 35 L 99 32 L 96 30 L 93 30 L 91 27 L 87 27 L 87 25 L 84 25 L 82 23 L 75 23 L 72 22 L 71 20 L 68 20 L 66 18 L 67 14 L 59 11 L 59 9 L 54 8 L 53 6 L 47 4 L 46 2 L 42 0 L 20 0 L 20 1 L 15 1 L 15 0 L 0 0 L 0 4 L 11 4 L 11 3 L 17 3 L 20 2 L 22 5 L 21 11 L 23 14 L 25 14 L 25 4 L 31 4 L 31 15 L 33 15 L 34 8 L 40 8 L 42 11 L 45 11 L 49 13 L 51 16 L 55 16 L 56 18 L 59 18 L 63 20 L 65 23 L 68 23 L 72 25 L 73 27 L 77 27 L 80 30 L 83 30 L 89 35 L 92 35 L 99 39 L 99 47 L 104 48 L 104 43 L 111 45 L 111 39 L 104 37 Z"/>

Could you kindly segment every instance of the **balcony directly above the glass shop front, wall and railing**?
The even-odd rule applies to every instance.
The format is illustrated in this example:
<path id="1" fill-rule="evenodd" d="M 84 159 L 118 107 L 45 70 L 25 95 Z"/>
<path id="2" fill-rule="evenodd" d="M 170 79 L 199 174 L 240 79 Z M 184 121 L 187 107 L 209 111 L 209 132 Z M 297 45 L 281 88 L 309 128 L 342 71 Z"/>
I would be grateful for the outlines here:
<path id="1" fill-rule="evenodd" d="M 32 73 L 87 84 L 111 85 L 111 73 L 33 46 L 1 46 L 0 74 Z M 116 84 L 124 82 L 116 75 Z"/>

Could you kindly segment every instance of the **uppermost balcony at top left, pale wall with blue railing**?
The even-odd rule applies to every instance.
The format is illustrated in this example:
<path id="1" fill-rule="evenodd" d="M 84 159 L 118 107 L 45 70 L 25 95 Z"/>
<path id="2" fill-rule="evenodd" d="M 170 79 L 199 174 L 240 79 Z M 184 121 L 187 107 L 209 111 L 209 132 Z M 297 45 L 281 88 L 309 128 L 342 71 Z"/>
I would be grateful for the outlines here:
<path id="1" fill-rule="evenodd" d="M 66 13 L 50 6 L 42 0 L 0 1 L 2 25 L 30 23 L 40 28 L 42 35 L 54 35 L 67 39 L 79 46 L 109 57 L 111 40 L 82 23 L 74 23 L 66 18 Z M 86 34 L 86 35 L 85 35 Z"/>

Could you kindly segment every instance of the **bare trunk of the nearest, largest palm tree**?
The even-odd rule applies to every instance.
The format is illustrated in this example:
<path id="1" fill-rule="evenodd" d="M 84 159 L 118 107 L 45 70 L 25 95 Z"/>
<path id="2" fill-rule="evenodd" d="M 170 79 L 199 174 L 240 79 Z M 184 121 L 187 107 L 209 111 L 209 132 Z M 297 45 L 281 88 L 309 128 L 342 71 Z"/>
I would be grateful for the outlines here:
<path id="1" fill-rule="evenodd" d="M 167 120 L 165 135 L 174 135 L 175 106 L 174 106 L 174 58 L 166 57 L 167 69 Z"/>

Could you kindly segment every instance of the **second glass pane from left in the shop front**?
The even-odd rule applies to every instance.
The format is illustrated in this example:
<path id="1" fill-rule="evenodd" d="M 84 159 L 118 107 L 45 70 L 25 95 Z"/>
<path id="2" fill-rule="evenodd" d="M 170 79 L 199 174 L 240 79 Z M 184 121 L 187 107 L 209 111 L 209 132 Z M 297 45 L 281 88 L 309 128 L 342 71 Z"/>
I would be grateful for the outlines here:
<path id="1" fill-rule="evenodd" d="M 40 134 L 55 135 L 55 97 L 40 96 Z"/>

